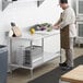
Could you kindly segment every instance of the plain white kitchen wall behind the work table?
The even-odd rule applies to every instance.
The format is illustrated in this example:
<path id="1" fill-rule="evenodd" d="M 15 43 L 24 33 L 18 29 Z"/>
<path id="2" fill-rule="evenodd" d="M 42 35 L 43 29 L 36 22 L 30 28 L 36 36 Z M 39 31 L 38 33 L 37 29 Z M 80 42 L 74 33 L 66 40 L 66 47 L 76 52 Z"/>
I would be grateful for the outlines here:
<path id="1" fill-rule="evenodd" d="M 0 9 L 1 1 L 2 0 L 0 0 Z M 59 19 L 61 11 L 57 4 L 58 0 L 45 0 L 45 2 L 37 8 L 35 1 L 15 1 L 10 3 L 3 11 L 0 10 L 0 44 L 8 43 L 5 32 L 9 32 L 11 28 L 11 22 L 15 22 L 23 32 L 33 24 L 44 22 L 54 24 Z"/>

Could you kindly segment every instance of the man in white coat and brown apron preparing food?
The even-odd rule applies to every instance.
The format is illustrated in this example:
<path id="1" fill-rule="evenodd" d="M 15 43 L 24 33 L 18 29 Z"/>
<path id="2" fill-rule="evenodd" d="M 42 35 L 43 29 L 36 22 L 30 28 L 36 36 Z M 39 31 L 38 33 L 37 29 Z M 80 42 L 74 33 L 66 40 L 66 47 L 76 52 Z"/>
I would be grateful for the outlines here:
<path id="1" fill-rule="evenodd" d="M 66 50 L 66 61 L 63 63 L 60 63 L 60 67 L 64 70 L 72 69 L 73 63 L 73 39 L 76 36 L 76 28 L 75 28 L 75 14 L 72 8 L 69 7 L 68 0 L 59 0 L 60 8 L 62 8 L 63 12 L 60 15 L 60 20 L 54 25 L 54 28 L 60 31 L 64 31 L 66 28 L 69 28 L 69 35 L 63 35 L 63 38 L 67 39 L 68 46 L 61 47 Z M 64 33 L 68 34 L 67 31 Z M 62 35 L 62 34 L 61 34 Z M 68 38 L 67 38 L 68 37 Z M 63 42 L 63 39 L 61 40 Z M 66 42 L 66 43 L 67 43 Z M 64 44 L 66 44 L 64 43 Z M 62 44 L 62 43 L 61 43 Z"/>

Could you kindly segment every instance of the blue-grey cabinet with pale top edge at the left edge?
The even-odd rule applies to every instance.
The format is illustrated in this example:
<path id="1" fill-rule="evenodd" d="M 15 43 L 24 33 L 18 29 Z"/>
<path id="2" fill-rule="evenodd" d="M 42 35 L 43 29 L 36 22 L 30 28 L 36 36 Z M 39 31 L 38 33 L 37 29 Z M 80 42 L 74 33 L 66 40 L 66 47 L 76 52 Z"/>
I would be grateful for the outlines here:
<path id="1" fill-rule="evenodd" d="M 8 49 L 7 46 L 0 45 L 0 83 L 7 83 L 8 70 Z"/>

